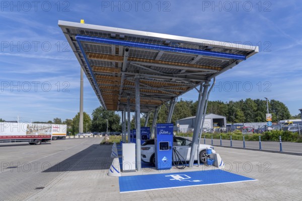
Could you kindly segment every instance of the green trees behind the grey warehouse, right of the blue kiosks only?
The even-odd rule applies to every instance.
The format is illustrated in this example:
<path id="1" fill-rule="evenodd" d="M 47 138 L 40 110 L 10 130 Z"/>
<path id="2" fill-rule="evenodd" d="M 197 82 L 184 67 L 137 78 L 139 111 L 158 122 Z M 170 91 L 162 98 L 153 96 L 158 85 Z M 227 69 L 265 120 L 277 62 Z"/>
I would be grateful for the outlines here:
<path id="1" fill-rule="evenodd" d="M 177 124 L 177 120 L 196 116 L 198 102 L 192 100 L 180 100 L 177 102 L 172 123 Z M 272 114 L 272 121 L 277 123 L 280 120 L 290 119 L 292 116 L 288 108 L 278 100 L 271 99 L 268 102 L 269 113 Z M 163 105 L 158 115 L 158 123 L 165 123 L 168 116 L 169 105 Z M 266 122 L 267 105 L 266 100 L 241 99 L 236 102 L 221 102 L 220 100 L 209 101 L 207 104 L 206 114 L 216 114 L 226 117 L 228 123 L 245 123 L 245 122 Z M 299 115 L 293 118 L 298 118 Z M 144 120 L 142 119 L 144 122 Z M 151 125 L 153 114 L 150 115 L 147 125 Z"/>

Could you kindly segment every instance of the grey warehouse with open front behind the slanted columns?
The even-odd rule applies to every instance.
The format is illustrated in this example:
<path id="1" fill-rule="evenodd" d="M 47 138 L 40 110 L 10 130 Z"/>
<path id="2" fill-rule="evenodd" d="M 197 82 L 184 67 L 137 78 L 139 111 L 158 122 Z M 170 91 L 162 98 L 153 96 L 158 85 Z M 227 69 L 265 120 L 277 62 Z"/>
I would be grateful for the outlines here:
<path id="1" fill-rule="evenodd" d="M 194 128 L 194 125 L 195 125 L 195 119 L 196 119 L 196 116 L 187 117 L 187 118 L 178 120 L 179 131 L 184 132 L 184 133 L 188 132 L 188 131 L 192 131 L 192 129 Z M 203 128 L 208 128 L 208 129 L 212 129 L 212 128 L 216 128 L 216 127 L 225 128 L 225 125 L 226 125 L 226 117 L 220 116 L 220 115 L 215 115 L 212 113 L 205 115 Z"/>

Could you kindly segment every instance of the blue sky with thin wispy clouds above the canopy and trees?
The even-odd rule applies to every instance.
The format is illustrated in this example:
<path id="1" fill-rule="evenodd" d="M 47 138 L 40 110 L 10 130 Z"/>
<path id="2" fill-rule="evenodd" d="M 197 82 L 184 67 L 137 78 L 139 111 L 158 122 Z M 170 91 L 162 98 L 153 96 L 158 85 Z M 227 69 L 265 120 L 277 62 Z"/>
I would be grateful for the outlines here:
<path id="1" fill-rule="evenodd" d="M 302 108 L 300 1 L 2 1 L 0 118 L 48 121 L 79 111 L 80 65 L 58 20 L 260 46 L 219 75 L 210 100 L 268 97 Z M 197 100 L 196 91 L 182 96 Z M 84 111 L 100 103 L 84 79 Z"/>

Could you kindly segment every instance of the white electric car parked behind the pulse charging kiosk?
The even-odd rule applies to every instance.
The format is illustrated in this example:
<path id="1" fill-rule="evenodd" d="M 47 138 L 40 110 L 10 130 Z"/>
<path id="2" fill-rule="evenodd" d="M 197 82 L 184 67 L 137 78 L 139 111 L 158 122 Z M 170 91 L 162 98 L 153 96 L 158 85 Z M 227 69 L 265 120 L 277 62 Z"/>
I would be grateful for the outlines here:
<path id="1" fill-rule="evenodd" d="M 154 148 L 154 139 L 150 139 L 145 141 L 141 145 L 141 160 L 146 163 L 155 164 L 155 148 Z M 176 149 L 179 154 L 186 159 L 186 161 L 190 160 L 192 141 L 187 140 L 182 137 L 174 137 L 173 138 L 173 148 Z M 214 147 L 210 145 L 200 144 L 199 145 L 199 154 L 195 155 L 195 159 L 197 160 L 197 156 L 199 156 L 199 160 L 201 163 L 206 163 L 207 158 L 209 156 L 206 154 L 206 149 L 212 149 L 212 153 L 215 153 Z"/>

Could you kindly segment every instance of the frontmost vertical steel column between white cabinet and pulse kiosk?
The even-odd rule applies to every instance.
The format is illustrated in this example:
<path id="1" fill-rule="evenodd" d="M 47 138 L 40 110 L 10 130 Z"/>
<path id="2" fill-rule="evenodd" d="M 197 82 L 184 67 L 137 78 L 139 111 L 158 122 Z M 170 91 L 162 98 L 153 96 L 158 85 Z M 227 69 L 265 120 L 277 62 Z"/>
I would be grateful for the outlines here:
<path id="1" fill-rule="evenodd" d="M 136 169 L 141 170 L 141 150 L 140 150 L 140 96 L 139 77 L 135 78 L 135 117 L 136 117 Z"/>

